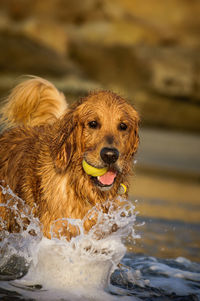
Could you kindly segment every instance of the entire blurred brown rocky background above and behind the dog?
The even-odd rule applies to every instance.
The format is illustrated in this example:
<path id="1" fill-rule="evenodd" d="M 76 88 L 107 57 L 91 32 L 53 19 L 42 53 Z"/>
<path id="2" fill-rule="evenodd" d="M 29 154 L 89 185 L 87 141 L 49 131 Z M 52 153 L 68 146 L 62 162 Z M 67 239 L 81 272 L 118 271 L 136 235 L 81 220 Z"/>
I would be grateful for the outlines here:
<path id="1" fill-rule="evenodd" d="M 142 125 L 198 132 L 199 16 L 199 0 L 1 0 L 0 96 L 34 74 L 69 101 L 112 89 Z"/>

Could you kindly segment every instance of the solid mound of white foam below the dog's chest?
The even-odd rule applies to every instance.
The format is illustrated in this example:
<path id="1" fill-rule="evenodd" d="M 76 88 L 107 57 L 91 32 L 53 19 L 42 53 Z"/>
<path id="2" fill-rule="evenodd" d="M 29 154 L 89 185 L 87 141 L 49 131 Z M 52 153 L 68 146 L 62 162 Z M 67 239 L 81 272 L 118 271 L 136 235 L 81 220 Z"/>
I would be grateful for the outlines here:
<path id="1" fill-rule="evenodd" d="M 86 250 L 90 247 L 97 253 Z M 28 274 L 19 281 L 41 284 L 44 289 L 105 289 L 113 267 L 124 254 L 125 247 L 119 240 L 96 245 L 85 240 L 76 249 L 71 244 L 43 238 Z"/>

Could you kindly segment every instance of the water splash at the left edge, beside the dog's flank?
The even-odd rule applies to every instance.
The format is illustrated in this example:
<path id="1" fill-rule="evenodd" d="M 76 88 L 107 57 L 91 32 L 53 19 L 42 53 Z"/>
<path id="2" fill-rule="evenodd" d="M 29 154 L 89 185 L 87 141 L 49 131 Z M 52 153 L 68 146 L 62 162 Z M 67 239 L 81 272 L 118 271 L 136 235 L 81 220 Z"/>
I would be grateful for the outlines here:
<path id="1" fill-rule="evenodd" d="M 0 280 L 22 277 L 32 261 L 33 250 L 41 240 L 40 223 L 25 202 L 7 186 L 0 185 L 5 202 L 0 204 Z M 9 233 L 1 212 L 14 215 L 17 233 Z M 25 224 L 26 221 L 26 224 Z M 34 235 L 33 235 L 34 234 Z"/>

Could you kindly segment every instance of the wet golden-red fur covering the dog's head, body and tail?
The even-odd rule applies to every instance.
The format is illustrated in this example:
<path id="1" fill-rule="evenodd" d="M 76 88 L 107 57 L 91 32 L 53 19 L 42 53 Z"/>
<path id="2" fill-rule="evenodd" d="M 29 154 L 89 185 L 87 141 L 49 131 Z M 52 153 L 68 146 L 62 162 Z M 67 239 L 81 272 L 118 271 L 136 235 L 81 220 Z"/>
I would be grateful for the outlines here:
<path id="1" fill-rule="evenodd" d="M 34 214 L 45 236 L 50 237 L 54 220 L 83 219 L 95 205 L 106 212 L 107 200 L 117 208 L 120 183 L 128 187 L 138 147 L 138 114 L 123 98 L 109 91 L 94 92 L 67 108 L 63 94 L 52 84 L 31 78 L 13 90 L 2 112 L 7 128 L 0 136 L 0 180 L 31 208 L 36 204 Z M 88 126 L 93 120 L 98 128 Z M 119 129 L 120 123 L 126 123 L 125 131 Z M 82 160 L 105 167 L 100 151 L 111 146 L 119 151 L 112 166 L 117 177 L 104 191 L 84 172 Z M 5 202 L 3 194 L 0 198 Z M 13 214 L 0 210 L 7 229 L 17 231 Z M 85 230 L 95 221 L 86 218 Z M 64 227 L 63 234 L 70 239 L 77 230 Z"/>

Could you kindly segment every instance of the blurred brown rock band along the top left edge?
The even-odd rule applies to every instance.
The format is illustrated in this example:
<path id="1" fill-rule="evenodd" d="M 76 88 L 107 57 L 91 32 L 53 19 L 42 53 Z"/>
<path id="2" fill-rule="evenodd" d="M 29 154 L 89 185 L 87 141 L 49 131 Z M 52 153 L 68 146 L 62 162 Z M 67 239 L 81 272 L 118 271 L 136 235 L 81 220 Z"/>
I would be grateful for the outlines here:
<path id="1" fill-rule="evenodd" d="M 99 0 L 1 0 L 0 8 L 13 20 L 29 17 L 57 22 L 80 23 L 88 18 L 102 18 Z M 27 5 L 28 4 L 28 5 Z"/>

